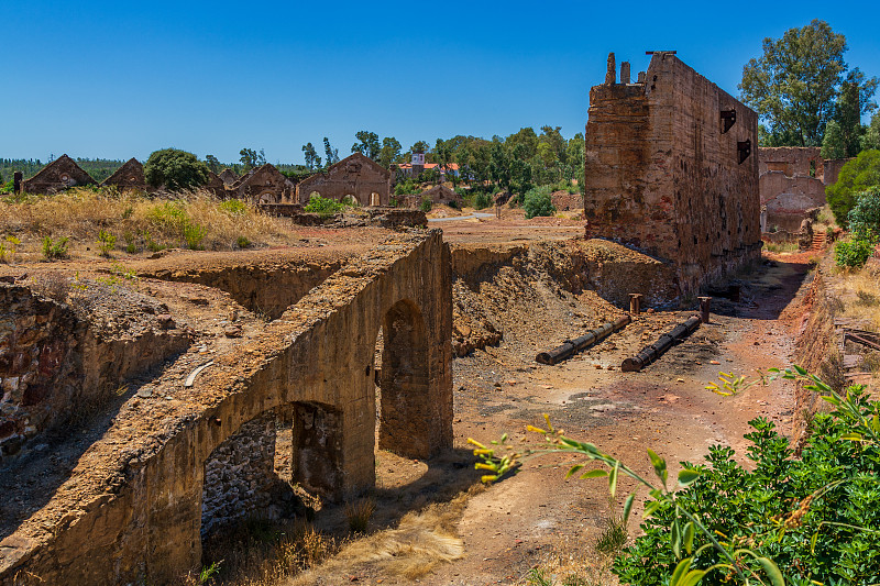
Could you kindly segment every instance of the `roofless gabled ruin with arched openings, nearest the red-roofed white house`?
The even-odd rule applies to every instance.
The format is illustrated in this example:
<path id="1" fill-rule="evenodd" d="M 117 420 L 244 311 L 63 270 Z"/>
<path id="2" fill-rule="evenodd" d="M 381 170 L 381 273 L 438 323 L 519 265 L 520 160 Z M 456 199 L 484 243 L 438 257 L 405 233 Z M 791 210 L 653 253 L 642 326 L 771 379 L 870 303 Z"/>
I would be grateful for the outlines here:
<path id="1" fill-rule="evenodd" d="M 353 197 L 361 206 L 387 206 L 392 189 L 392 173 L 361 153 L 353 153 L 296 186 L 296 201 L 309 202 L 317 191 L 321 197 L 341 200 Z"/>

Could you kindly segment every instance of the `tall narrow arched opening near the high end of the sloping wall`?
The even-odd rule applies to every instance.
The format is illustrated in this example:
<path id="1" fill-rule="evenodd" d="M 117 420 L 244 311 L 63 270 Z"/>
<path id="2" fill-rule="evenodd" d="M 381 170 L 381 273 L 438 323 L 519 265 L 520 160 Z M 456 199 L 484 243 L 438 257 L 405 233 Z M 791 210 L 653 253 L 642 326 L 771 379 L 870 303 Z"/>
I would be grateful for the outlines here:
<path id="1" fill-rule="evenodd" d="M 407 457 L 433 452 L 428 335 L 418 306 L 403 299 L 382 321 L 378 446 Z"/>

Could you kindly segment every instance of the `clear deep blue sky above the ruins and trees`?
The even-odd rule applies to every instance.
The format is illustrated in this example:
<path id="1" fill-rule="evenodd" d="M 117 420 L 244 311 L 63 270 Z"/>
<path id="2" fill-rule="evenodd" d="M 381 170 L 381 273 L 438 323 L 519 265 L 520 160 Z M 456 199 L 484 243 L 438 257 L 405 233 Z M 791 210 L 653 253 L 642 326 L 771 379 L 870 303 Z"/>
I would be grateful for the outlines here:
<path id="1" fill-rule="evenodd" d="M 864 2 L 227 2 L 0 0 L 0 156 L 144 161 L 175 146 L 301 163 L 328 136 L 583 132 L 605 60 L 679 57 L 734 96 L 743 65 L 812 19 L 880 76 L 880 4 Z"/>

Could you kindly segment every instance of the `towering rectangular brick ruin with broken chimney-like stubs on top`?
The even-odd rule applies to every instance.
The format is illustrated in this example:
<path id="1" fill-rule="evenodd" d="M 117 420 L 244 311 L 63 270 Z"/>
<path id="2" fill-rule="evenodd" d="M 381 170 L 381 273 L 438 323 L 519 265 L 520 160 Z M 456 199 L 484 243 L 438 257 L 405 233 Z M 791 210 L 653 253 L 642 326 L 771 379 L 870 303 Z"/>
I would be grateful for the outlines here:
<path id="1" fill-rule="evenodd" d="M 590 90 L 586 236 L 669 263 L 693 296 L 760 257 L 758 114 L 672 53 L 635 84 L 614 63 Z"/>

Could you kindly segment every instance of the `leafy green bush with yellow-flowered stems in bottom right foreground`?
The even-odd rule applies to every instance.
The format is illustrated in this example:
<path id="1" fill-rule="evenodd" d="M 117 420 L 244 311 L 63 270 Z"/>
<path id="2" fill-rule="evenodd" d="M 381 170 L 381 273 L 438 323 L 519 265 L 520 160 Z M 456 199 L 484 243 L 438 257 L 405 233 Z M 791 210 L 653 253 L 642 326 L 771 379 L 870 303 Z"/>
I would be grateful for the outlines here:
<path id="1" fill-rule="evenodd" d="M 880 402 L 871 401 L 864 385 L 844 395 L 818 377 L 794 366 L 771 368 L 759 380 L 722 374 L 719 395 L 741 392 L 759 382 L 803 380 L 804 389 L 821 395 L 833 407 L 818 413 L 800 457 L 772 422 L 757 418 L 745 435 L 752 464 L 741 466 L 730 447 L 714 445 L 706 464 L 682 462 L 678 486 L 669 484 L 663 458 L 651 450 L 659 484 L 648 480 L 619 460 L 553 429 L 529 427 L 544 436 L 541 446 L 517 452 L 505 434 L 495 447 L 469 440 L 487 471 L 484 482 L 515 471 L 536 452 L 579 454 L 603 467 L 580 474 L 605 477 L 614 496 L 620 474 L 649 489 L 644 535 L 615 560 L 622 584 L 681 586 L 697 583 L 877 584 L 880 581 Z M 521 447 L 519 447 L 521 450 Z M 568 476 L 581 473 L 575 464 Z M 674 482 L 674 480 L 673 480 Z M 635 495 L 624 506 L 629 516 Z M 755 578 L 758 578 L 755 581 Z"/>

